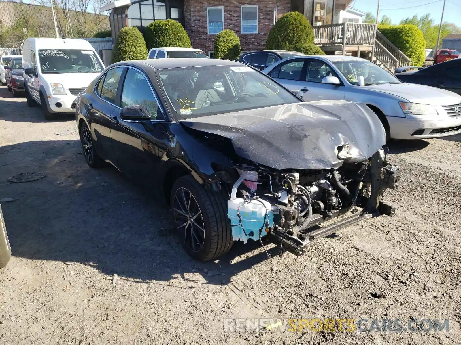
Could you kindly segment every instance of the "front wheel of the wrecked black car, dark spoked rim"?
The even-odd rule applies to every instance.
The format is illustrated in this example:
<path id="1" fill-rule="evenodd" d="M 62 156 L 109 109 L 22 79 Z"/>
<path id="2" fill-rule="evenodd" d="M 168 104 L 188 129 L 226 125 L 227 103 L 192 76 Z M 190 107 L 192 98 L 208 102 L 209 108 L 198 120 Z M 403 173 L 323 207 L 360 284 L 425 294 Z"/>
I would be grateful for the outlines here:
<path id="1" fill-rule="evenodd" d="M 212 260 L 231 249 L 232 230 L 223 194 L 185 175 L 173 184 L 170 206 L 179 239 L 193 259 Z"/>

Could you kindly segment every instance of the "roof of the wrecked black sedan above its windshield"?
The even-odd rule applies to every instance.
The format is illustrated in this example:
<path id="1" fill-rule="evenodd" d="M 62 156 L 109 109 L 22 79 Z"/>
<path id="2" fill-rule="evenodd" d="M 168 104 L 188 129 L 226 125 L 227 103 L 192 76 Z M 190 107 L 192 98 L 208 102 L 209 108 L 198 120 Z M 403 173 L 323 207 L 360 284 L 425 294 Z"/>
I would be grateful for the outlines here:
<path id="1" fill-rule="evenodd" d="M 178 68 L 178 67 L 202 67 L 202 66 L 247 66 L 235 60 L 224 59 L 208 59 L 208 58 L 195 58 L 195 57 L 173 57 L 168 59 L 148 59 L 148 60 L 133 60 L 133 61 L 120 61 L 116 64 L 132 64 L 141 69 L 145 69 L 146 65 L 154 69 L 165 68 Z"/>

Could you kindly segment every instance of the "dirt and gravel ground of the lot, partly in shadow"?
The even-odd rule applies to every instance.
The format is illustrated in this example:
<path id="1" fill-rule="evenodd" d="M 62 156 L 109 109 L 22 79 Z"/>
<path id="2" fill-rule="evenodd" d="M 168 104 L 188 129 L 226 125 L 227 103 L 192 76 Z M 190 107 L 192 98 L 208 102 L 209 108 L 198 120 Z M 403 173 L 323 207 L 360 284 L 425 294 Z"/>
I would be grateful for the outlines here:
<path id="1" fill-rule="evenodd" d="M 319 240 L 297 259 L 273 246 L 268 259 L 256 243 L 201 263 L 171 236 L 163 201 L 113 168 L 87 167 L 72 116 L 46 121 L 0 87 L 0 199 L 15 199 L 1 205 L 13 256 L 0 270 L 0 344 L 460 344 L 461 136 L 390 151 L 402 171 L 400 189 L 386 194 L 395 216 Z M 47 176 L 8 182 L 30 171 Z M 225 327 L 238 318 L 404 326 Z M 449 332 L 405 326 L 447 318 Z"/>

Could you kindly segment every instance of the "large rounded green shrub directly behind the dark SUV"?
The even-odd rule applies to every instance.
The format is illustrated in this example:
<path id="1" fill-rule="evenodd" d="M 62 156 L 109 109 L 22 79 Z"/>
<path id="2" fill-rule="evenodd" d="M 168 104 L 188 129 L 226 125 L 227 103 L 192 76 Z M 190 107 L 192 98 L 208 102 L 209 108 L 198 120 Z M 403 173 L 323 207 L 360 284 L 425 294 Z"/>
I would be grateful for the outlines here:
<path id="1" fill-rule="evenodd" d="M 269 31 L 266 49 L 294 50 L 314 42 L 309 21 L 299 12 L 285 13 Z"/>

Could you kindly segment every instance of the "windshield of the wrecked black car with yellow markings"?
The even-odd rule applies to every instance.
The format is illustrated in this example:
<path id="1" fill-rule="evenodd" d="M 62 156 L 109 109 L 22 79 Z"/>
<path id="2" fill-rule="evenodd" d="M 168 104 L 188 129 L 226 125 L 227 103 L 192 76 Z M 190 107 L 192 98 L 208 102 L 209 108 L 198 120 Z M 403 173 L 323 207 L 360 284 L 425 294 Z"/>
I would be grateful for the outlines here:
<path id="1" fill-rule="evenodd" d="M 176 120 L 300 102 L 251 67 L 184 67 L 158 73 Z"/>

